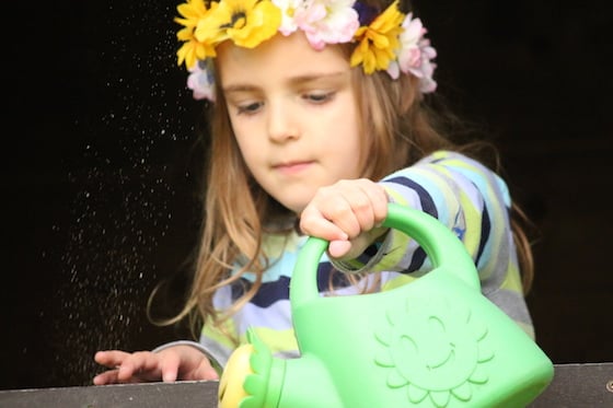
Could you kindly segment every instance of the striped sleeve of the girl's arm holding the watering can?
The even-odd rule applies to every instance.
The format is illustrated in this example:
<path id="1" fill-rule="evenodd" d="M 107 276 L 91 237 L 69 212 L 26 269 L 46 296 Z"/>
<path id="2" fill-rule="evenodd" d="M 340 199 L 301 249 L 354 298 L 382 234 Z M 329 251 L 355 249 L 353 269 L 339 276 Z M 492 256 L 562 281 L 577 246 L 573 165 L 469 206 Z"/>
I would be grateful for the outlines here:
<path id="1" fill-rule="evenodd" d="M 482 279 L 509 252 L 510 198 L 504 180 L 465 155 L 440 151 L 381 180 L 390 200 L 423 210 L 449 226 L 475 260 Z M 371 256 L 335 266 L 345 272 L 397 271 L 419 276 L 430 269 L 425 252 L 404 233 L 391 230 Z M 505 269 L 508 265 L 505 266 Z"/>

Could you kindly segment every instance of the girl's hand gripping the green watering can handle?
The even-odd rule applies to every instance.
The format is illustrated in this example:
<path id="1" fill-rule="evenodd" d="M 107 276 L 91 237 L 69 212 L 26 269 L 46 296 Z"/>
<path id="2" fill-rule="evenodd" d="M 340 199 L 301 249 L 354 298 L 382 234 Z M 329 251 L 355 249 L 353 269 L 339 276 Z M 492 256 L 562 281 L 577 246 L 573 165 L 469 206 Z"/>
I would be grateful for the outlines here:
<path id="1" fill-rule="evenodd" d="M 388 229 L 379 226 L 388 217 L 385 189 L 367 178 L 339 180 L 321 187 L 300 215 L 304 234 L 329 241 L 333 258 L 359 256 Z"/>

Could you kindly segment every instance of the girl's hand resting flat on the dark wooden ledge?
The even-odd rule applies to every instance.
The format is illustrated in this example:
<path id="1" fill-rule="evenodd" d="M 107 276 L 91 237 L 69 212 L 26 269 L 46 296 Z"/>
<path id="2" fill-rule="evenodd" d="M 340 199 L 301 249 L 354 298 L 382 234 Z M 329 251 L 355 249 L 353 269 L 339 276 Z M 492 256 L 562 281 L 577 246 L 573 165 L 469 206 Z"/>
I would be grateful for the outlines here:
<path id="1" fill-rule="evenodd" d="M 94 385 L 219 380 L 209 359 L 190 346 L 169 347 L 159 352 L 99 351 L 94 360 L 111 369 L 96 375 Z"/>

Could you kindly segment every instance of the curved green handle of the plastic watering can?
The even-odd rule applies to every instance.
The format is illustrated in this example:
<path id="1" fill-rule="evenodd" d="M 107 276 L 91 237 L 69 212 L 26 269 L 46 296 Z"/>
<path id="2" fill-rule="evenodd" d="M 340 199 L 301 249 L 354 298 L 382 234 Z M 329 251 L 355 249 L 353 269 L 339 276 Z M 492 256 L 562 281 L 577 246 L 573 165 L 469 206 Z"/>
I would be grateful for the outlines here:
<path id="1" fill-rule="evenodd" d="M 414 238 L 428 255 L 432 270 L 444 269 L 481 290 L 475 264 L 466 248 L 458 236 L 432 215 L 391 202 L 383 225 L 400 230 Z M 327 241 L 311 236 L 300 250 L 290 283 L 293 306 L 319 296 L 315 276 L 327 245 Z"/>

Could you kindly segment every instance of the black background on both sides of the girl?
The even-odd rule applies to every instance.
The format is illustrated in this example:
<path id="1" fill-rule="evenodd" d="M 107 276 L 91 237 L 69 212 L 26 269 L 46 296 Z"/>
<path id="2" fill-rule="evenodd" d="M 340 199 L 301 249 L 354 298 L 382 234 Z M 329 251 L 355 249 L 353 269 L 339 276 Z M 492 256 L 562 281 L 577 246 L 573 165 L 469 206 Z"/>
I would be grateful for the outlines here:
<path id="1" fill-rule="evenodd" d="M 144 315 L 153 285 L 186 270 L 198 228 L 200 105 L 175 62 L 176 4 L 5 12 L 3 389 L 91 384 L 96 350 L 186 335 Z M 539 228 L 539 343 L 556 363 L 613 361 L 611 3 L 415 5 L 439 92 L 498 143 Z"/>

